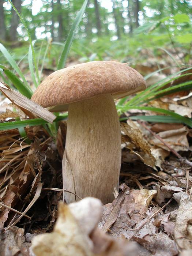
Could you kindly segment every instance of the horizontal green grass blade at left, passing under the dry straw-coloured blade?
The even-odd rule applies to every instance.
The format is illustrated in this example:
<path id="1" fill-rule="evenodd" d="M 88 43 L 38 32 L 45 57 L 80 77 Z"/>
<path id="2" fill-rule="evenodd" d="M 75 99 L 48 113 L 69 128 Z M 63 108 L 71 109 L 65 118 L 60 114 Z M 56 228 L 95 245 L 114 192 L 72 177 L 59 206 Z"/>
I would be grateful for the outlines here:
<path id="1" fill-rule="evenodd" d="M 59 122 L 65 118 L 67 118 L 67 116 L 68 116 L 68 114 L 65 113 L 61 116 L 56 117 L 56 119 L 53 122 Z M 42 118 L 29 119 L 29 120 L 24 120 L 24 121 L 4 122 L 4 123 L 0 123 L 0 131 L 22 128 L 22 127 L 26 127 L 27 125 L 35 126 L 35 125 L 44 125 L 44 124 L 48 124 L 48 122 Z"/>

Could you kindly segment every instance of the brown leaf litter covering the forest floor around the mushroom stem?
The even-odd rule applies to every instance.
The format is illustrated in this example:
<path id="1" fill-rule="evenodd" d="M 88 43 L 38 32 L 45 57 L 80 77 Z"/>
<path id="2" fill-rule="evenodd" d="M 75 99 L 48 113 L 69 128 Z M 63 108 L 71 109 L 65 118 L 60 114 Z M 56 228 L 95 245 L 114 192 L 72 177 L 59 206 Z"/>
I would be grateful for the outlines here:
<path id="1" fill-rule="evenodd" d="M 157 69 L 155 65 L 147 63 L 135 68 L 147 74 Z M 148 83 L 167 75 L 165 71 L 152 76 Z M 192 80 L 191 75 L 180 79 Z M 174 85 L 181 80 L 175 80 Z M 0 97 L 1 122 L 10 117 L 9 121 L 15 120 L 18 113 L 20 118 L 26 117 L 18 108 L 15 114 L 7 99 Z M 190 91 L 154 99 L 149 105 L 191 118 Z M 89 247 L 89 241 L 83 240 L 84 234 L 80 233 L 83 242 L 74 236 L 76 251 L 66 255 L 192 255 L 192 131 L 181 123 L 129 118 L 138 114 L 157 113 L 129 110 L 121 115 L 120 192 L 116 191 L 112 203 L 102 206 L 98 223 L 99 229 L 110 236 L 106 238 L 108 242 L 96 232 L 94 253 L 83 254 L 82 246 Z M 18 129 L 0 131 L 0 256 L 33 255 L 29 249 L 31 240 L 52 232 L 63 199 L 61 160 L 67 121 L 59 122 L 56 140 L 43 126 L 25 130 L 31 144 L 20 138 Z M 57 236 L 52 239 L 59 247 Z M 93 241 L 93 237 L 89 239 Z M 99 251 L 101 247 L 103 251 Z"/>

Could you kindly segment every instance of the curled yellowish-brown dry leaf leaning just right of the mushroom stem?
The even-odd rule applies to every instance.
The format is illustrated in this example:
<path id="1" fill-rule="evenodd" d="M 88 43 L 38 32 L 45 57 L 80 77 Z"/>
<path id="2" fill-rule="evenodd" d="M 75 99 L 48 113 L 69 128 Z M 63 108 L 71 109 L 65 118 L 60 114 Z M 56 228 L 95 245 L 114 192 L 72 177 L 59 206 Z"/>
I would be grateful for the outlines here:
<path id="1" fill-rule="evenodd" d="M 155 166 L 155 158 L 151 154 L 150 145 L 144 140 L 139 129 L 133 129 L 129 124 L 121 123 L 123 146 L 151 167 Z"/>

